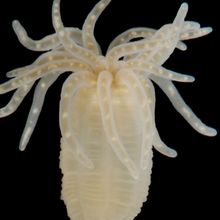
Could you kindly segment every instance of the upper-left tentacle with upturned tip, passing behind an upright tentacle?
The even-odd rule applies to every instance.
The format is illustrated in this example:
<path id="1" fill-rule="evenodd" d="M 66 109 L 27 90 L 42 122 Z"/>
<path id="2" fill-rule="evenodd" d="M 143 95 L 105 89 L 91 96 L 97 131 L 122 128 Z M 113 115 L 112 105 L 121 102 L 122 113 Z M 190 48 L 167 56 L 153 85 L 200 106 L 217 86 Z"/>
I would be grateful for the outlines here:
<path id="1" fill-rule="evenodd" d="M 56 33 L 48 35 L 41 40 L 33 40 L 28 36 L 26 30 L 18 20 L 13 21 L 12 27 L 20 43 L 29 50 L 48 51 L 53 50 L 60 45 L 60 41 Z M 74 42 L 78 45 L 82 45 L 82 32 L 79 29 L 65 28 L 65 30 Z"/>

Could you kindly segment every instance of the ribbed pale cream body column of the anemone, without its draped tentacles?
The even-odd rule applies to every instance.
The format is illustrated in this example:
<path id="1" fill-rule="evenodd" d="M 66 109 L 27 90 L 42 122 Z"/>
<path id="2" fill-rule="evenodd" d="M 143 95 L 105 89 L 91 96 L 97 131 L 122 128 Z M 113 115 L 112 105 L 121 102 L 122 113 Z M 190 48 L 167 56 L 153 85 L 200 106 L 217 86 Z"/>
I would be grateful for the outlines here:
<path id="1" fill-rule="evenodd" d="M 68 99 L 63 99 L 68 102 Z M 64 103 L 61 104 L 63 105 Z M 64 104 L 65 105 L 65 104 Z M 138 167 L 138 179 L 118 160 L 106 138 L 96 87 L 81 89 L 74 98 L 70 123 L 84 153 L 94 164 L 88 169 L 73 154 L 75 146 L 61 141 L 62 199 L 71 219 L 133 219 L 146 200 L 152 167 L 152 126 L 147 122 L 146 167 L 140 166 L 142 118 L 138 106 L 122 86 L 112 89 L 112 108 L 120 140 Z M 149 114 L 149 115 L 148 115 Z M 146 116 L 150 116 L 149 111 Z M 106 115 L 106 117 L 108 117 Z M 147 118 L 151 118 L 147 117 Z M 65 126 L 65 125 L 64 125 Z M 62 128 L 62 125 L 61 125 Z M 65 130 L 65 128 L 64 128 Z"/>

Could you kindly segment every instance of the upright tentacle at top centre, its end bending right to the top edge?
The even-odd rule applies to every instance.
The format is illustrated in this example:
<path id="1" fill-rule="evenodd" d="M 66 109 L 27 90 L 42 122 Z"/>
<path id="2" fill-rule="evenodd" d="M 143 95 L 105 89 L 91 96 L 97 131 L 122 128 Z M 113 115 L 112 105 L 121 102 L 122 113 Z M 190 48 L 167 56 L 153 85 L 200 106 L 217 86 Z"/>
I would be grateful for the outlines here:
<path id="1" fill-rule="evenodd" d="M 104 11 L 106 6 L 110 3 L 111 0 L 101 0 L 99 1 L 92 11 L 87 16 L 83 28 L 82 28 L 82 39 L 83 46 L 96 54 L 101 54 L 101 49 L 94 37 L 94 27 L 98 17 Z"/>

